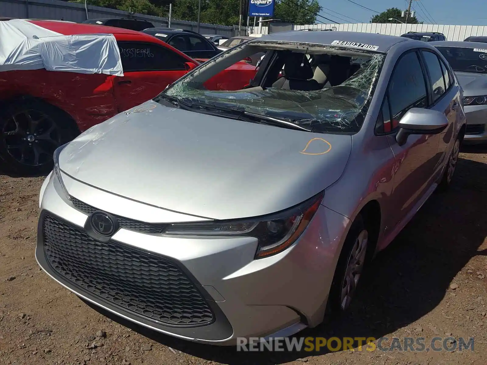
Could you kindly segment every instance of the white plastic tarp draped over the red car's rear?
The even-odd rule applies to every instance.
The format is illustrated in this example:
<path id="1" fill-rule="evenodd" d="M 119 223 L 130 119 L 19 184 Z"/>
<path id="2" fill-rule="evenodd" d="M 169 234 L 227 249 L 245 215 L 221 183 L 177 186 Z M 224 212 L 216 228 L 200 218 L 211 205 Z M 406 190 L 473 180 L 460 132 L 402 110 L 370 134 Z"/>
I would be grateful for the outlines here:
<path id="1" fill-rule="evenodd" d="M 37 69 L 123 76 L 112 34 L 64 36 L 22 19 L 0 21 L 0 72 Z"/>

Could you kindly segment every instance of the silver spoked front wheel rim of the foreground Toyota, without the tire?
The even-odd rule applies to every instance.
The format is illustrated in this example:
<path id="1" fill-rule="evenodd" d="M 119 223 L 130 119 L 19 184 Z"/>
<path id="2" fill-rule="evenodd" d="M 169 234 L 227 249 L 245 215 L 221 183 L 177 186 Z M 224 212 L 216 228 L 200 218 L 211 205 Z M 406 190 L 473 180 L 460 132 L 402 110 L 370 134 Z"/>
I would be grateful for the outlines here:
<path id="1" fill-rule="evenodd" d="M 356 286 L 365 264 L 368 237 L 367 230 L 362 230 L 358 234 L 350 256 L 348 257 L 345 276 L 341 286 L 340 306 L 342 310 L 346 310 L 349 307 L 355 294 Z"/>

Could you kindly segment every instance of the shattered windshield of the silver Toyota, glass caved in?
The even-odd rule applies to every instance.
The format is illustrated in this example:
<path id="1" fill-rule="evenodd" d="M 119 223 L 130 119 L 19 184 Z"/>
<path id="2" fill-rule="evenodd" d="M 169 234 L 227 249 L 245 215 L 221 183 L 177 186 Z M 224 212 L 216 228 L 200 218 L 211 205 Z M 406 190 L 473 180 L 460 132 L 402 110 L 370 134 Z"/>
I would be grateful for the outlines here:
<path id="1" fill-rule="evenodd" d="M 265 57 L 247 87 L 206 88 L 219 70 L 259 52 Z M 187 74 L 154 100 L 166 98 L 182 108 L 222 111 L 237 119 L 251 115 L 254 121 L 261 119 L 257 122 L 281 122 L 284 128 L 355 133 L 363 123 L 384 57 L 332 46 L 241 45 Z"/>

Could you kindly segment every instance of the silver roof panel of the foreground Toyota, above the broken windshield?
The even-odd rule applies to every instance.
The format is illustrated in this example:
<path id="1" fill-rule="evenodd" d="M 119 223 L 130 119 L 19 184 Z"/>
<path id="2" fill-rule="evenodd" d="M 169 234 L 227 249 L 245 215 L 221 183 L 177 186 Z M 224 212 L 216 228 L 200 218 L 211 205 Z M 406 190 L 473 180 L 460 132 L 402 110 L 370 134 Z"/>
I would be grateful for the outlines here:
<path id="1" fill-rule="evenodd" d="M 377 52 L 387 52 L 393 45 L 400 42 L 419 42 L 405 37 L 386 36 L 375 33 L 361 33 L 361 32 L 302 32 L 302 31 L 288 31 L 270 34 L 256 38 L 257 41 L 274 41 L 274 42 L 297 42 L 297 43 L 311 43 L 322 45 L 335 45 L 352 48 L 369 49 Z M 251 41 L 252 42 L 252 41 Z M 344 42 L 344 43 L 342 43 Z M 346 45 L 346 43 L 351 45 Z M 374 46 L 366 48 L 365 46 Z"/>

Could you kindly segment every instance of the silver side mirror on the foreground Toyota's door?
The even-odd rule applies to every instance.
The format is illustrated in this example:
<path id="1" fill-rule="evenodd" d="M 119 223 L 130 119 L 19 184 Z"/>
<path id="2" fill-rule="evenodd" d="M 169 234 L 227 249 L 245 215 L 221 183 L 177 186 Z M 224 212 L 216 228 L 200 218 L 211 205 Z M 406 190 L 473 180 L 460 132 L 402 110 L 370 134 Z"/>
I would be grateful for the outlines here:
<path id="1" fill-rule="evenodd" d="M 446 115 L 437 110 L 411 108 L 399 121 L 396 141 L 402 146 L 410 134 L 438 134 L 448 126 Z"/>

